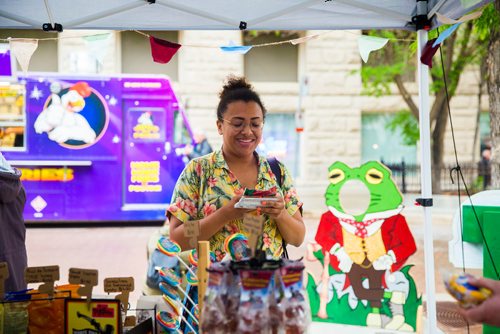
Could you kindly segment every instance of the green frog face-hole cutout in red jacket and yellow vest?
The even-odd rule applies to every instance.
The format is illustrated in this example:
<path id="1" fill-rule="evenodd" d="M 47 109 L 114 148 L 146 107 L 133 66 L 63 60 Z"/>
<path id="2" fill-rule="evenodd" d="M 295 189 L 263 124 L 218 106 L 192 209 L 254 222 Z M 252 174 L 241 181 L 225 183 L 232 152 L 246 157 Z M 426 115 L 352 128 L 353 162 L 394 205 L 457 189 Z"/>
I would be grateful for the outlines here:
<path id="1" fill-rule="evenodd" d="M 328 211 L 308 245 L 307 259 L 323 265 L 318 285 L 308 279 L 313 320 L 415 331 L 421 298 L 403 265 L 416 245 L 391 171 L 377 161 L 337 161 L 328 177 Z"/>

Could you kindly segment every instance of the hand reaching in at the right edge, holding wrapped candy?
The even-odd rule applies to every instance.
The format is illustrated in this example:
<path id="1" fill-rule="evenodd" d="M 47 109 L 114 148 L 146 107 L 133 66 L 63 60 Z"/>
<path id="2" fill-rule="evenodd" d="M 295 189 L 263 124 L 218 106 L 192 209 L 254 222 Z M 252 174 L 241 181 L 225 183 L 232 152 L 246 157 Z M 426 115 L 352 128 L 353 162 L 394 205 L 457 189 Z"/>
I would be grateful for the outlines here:
<path id="1" fill-rule="evenodd" d="M 491 326 L 500 326 L 500 281 L 489 278 L 473 278 L 469 280 L 471 285 L 490 289 L 492 295 L 481 304 L 464 309 L 459 312 L 470 322 L 480 322 Z"/>

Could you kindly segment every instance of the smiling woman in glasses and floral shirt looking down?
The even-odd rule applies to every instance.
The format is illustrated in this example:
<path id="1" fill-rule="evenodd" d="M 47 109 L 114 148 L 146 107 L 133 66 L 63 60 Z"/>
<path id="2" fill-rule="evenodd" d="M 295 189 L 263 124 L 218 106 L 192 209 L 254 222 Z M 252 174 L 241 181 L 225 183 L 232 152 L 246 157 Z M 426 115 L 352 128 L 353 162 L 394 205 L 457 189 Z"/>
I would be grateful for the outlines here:
<path id="1" fill-rule="evenodd" d="M 249 210 L 235 208 L 245 188 L 277 189 L 277 201 L 257 210 L 264 215 L 263 233 L 268 237 L 266 255 L 280 257 L 283 241 L 300 246 L 305 236 L 301 206 L 292 177 L 280 162 L 282 185 L 278 186 L 267 159 L 255 149 L 262 139 L 266 109 L 245 78 L 229 77 L 219 94 L 217 131 L 222 147 L 191 160 L 177 180 L 167 218 L 170 238 L 183 250 L 190 249 L 184 223 L 199 221 L 198 240 L 209 240 L 210 250 L 225 255 L 224 240 L 245 235 L 243 216 Z"/>

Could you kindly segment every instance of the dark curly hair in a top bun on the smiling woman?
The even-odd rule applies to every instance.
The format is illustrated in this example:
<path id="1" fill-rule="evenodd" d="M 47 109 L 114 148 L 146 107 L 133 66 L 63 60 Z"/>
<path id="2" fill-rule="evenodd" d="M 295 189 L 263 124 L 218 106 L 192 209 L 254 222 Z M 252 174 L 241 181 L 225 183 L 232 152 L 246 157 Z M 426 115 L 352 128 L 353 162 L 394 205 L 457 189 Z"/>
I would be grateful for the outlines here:
<path id="1" fill-rule="evenodd" d="M 219 105 L 217 106 L 217 119 L 222 121 L 223 115 L 227 111 L 227 106 L 235 101 L 253 101 L 257 103 L 262 109 L 262 117 L 266 118 L 266 108 L 260 100 L 259 94 L 254 91 L 251 84 L 249 84 L 244 77 L 229 76 L 226 83 L 219 93 Z"/>

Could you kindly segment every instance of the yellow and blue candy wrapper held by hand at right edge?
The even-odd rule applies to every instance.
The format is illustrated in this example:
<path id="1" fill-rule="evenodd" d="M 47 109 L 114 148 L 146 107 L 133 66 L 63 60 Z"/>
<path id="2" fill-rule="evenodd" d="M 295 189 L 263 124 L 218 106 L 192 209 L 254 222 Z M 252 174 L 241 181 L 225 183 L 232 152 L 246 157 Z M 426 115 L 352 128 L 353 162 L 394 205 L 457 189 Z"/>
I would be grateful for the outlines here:
<path id="1" fill-rule="evenodd" d="M 469 283 L 473 278 L 470 274 L 443 273 L 443 277 L 446 290 L 463 308 L 479 305 L 491 296 L 491 290 Z"/>

